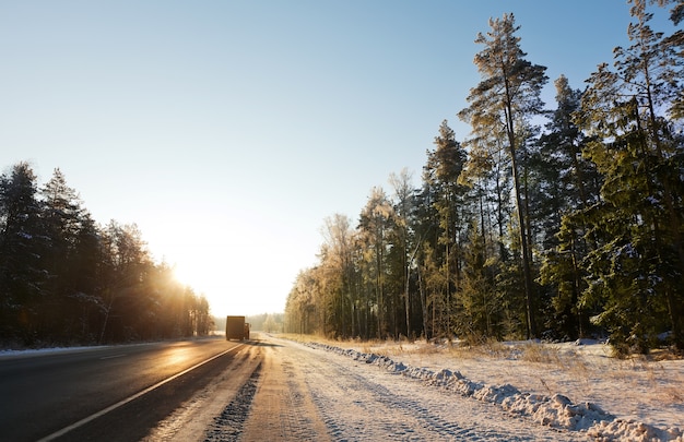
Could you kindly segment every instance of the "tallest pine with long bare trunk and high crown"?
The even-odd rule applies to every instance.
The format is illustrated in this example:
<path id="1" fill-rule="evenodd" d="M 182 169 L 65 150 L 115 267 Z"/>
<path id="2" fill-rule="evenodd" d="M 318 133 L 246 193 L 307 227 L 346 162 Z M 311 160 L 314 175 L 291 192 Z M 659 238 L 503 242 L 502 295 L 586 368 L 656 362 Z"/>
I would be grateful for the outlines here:
<path id="1" fill-rule="evenodd" d="M 491 31 L 477 34 L 476 44 L 484 49 L 475 56 L 482 81 L 470 91 L 470 107 L 461 110 L 459 117 L 471 124 L 476 138 L 485 138 L 490 133 L 506 136 L 514 188 L 516 190 L 516 208 L 518 214 L 518 232 L 520 236 L 521 262 L 527 304 L 528 335 L 536 336 L 534 322 L 534 299 L 530 243 L 527 234 L 527 219 L 522 201 L 522 169 L 518 150 L 521 147 L 521 123 L 542 111 L 540 98 L 542 87 L 547 81 L 546 68 L 532 64 L 524 59 L 520 49 L 520 37 L 516 36 L 512 14 L 504 14 L 503 19 L 490 20 Z"/>

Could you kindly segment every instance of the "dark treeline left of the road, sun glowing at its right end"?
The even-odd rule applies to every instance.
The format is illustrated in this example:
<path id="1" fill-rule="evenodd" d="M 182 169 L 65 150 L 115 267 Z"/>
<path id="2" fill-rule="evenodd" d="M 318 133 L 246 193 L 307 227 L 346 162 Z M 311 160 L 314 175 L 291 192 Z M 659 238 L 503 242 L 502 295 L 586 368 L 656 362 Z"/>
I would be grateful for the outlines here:
<path id="1" fill-rule="evenodd" d="M 56 169 L 0 176 L 0 344 L 205 335 L 209 303 L 155 264 L 135 225 L 98 226 Z"/>

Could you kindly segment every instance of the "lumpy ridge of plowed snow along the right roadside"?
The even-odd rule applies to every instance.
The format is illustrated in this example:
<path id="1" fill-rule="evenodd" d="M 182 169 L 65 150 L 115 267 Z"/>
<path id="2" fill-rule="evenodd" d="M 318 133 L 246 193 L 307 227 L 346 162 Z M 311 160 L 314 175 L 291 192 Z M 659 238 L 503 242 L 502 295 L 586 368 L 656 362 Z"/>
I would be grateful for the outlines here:
<path id="1" fill-rule="evenodd" d="M 528 416 L 542 426 L 586 432 L 587 435 L 598 441 L 684 442 L 684 433 L 679 428 L 663 430 L 644 422 L 618 419 L 595 404 L 574 404 L 562 394 L 546 396 L 523 393 L 510 384 L 488 385 L 473 382 L 459 371 L 449 369 L 433 371 L 424 367 L 405 366 L 387 356 L 361 353 L 351 348 L 345 349 L 319 343 L 307 345 L 346 356 L 359 362 L 378 366 L 391 373 L 421 381 L 426 385 L 438 386 L 463 396 L 499 405 L 505 410 Z"/>

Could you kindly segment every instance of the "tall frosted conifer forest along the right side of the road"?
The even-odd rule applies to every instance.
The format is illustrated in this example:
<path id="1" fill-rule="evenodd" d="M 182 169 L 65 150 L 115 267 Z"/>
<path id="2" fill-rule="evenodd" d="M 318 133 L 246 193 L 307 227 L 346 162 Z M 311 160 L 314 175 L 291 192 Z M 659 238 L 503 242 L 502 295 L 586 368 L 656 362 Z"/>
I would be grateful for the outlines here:
<path id="1" fill-rule="evenodd" d="M 286 331 L 468 339 L 610 336 L 625 354 L 684 349 L 684 33 L 630 1 L 629 47 L 574 89 L 526 59 L 512 14 L 479 34 L 481 81 L 427 151 L 372 190 L 358 223 L 326 219 Z M 671 20 L 679 25 L 684 2 Z M 650 3 L 649 3 L 650 4 Z M 662 4 L 661 4 L 662 5 Z"/>

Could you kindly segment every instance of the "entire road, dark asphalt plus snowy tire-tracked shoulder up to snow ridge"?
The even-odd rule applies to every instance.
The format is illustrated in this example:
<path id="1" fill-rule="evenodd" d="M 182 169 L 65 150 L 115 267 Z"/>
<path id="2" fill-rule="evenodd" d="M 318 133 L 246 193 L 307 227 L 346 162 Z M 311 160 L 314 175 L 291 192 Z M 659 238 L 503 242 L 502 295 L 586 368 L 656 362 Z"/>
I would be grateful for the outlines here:
<path id="1" fill-rule="evenodd" d="M 2 441 L 571 441 L 493 404 L 256 335 L 0 357 Z"/>

